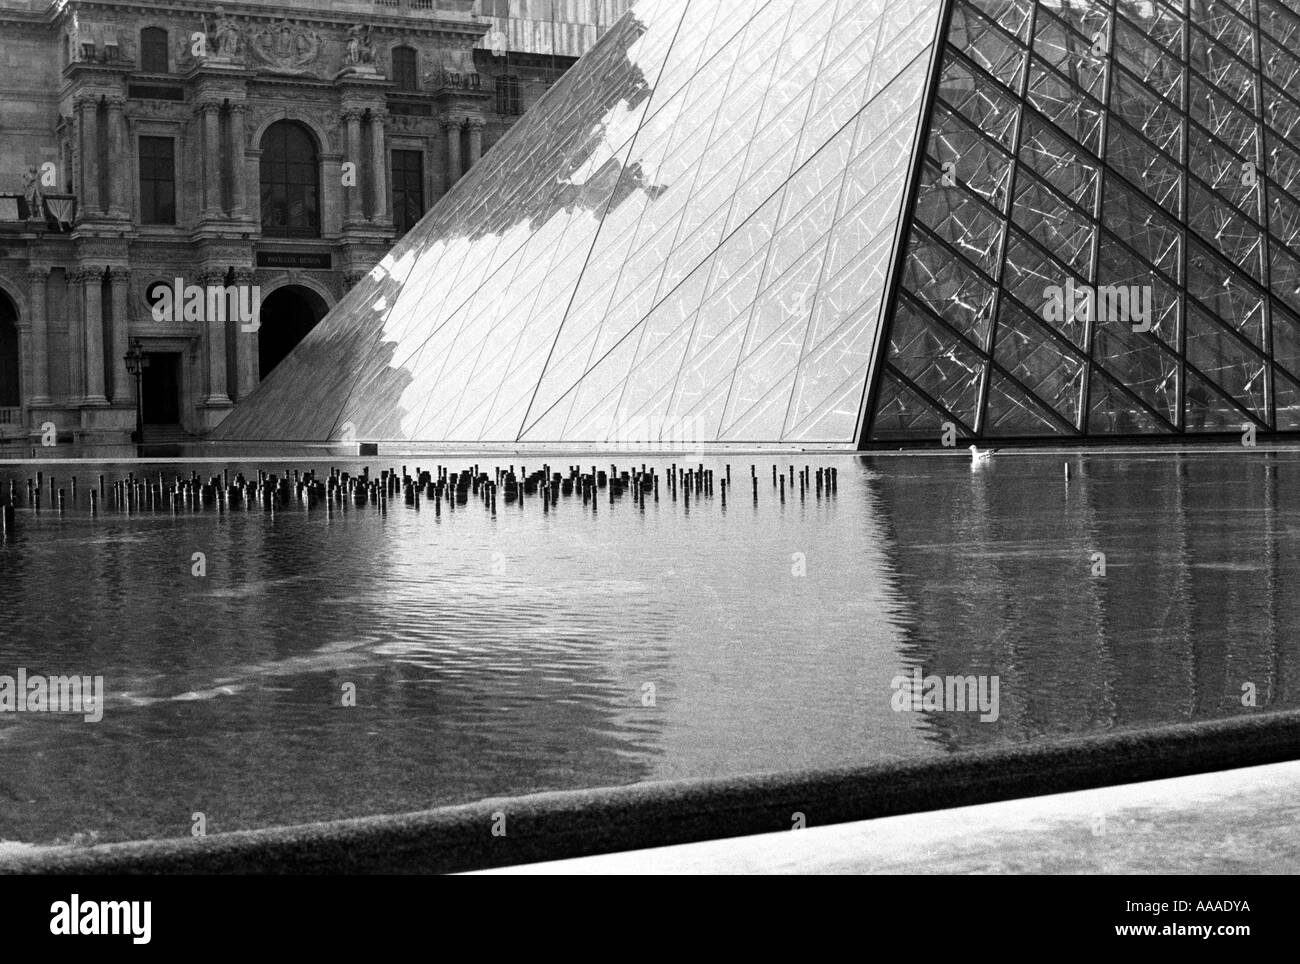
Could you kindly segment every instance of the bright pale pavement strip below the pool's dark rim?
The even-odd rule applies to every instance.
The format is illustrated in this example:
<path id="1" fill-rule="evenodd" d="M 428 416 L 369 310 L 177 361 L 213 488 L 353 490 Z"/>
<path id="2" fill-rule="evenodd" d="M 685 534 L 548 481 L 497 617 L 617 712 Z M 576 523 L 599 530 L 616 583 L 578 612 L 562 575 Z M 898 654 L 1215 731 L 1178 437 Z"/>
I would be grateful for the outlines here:
<path id="1" fill-rule="evenodd" d="M 486 873 L 1300 873 L 1300 763 Z"/>

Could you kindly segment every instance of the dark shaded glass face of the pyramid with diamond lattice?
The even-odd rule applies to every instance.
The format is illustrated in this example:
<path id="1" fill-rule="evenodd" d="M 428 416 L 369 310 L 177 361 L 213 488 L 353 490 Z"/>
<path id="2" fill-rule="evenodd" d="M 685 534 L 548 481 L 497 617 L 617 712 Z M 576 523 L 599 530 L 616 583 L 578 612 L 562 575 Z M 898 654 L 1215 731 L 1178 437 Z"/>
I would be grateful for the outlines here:
<path id="1" fill-rule="evenodd" d="M 1300 430 L 1300 16 L 946 16 L 864 444 Z"/>

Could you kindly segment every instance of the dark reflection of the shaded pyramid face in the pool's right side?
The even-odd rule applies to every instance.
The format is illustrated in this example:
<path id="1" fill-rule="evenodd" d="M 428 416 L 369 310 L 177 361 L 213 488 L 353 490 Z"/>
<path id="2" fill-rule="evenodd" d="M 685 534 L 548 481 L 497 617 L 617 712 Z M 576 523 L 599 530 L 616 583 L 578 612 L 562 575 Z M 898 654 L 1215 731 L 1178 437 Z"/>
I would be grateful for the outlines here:
<path id="1" fill-rule="evenodd" d="M 1070 461 L 1070 483 L 1060 456 L 975 473 L 890 460 L 874 483 L 913 590 L 907 657 L 1002 677 L 998 725 L 933 715 L 935 735 L 967 748 L 1253 712 L 1252 687 L 1258 707 L 1292 705 L 1296 509 L 1279 476 L 1295 456 Z"/>

